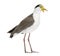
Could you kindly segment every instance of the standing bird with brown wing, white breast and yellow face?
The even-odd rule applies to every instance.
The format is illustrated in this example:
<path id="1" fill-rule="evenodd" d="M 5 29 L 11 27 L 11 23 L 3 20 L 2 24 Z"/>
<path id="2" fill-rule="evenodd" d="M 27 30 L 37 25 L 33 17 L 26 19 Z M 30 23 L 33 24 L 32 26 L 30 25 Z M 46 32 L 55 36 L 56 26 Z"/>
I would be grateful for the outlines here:
<path id="1" fill-rule="evenodd" d="M 32 31 L 34 31 L 35 29 L 38 28 L 38 26 L 40 25 L 40 13 L 47 11 L 47 9 L 45 9 L 45 7 L 42 4 L 38 4 L 35 6 L 33 13 L 31 13 L 30 15 L 28 15 L 26 18 L 24 18 L 17 26 L 15 26 L 13 29 L 11 29 L 10 31 L 8 31 L 8 33 L 10 33 L 10 38 L 12 38 L 14 36 L 15 33 L 23 33 L 24 34 L 24 51 L 25 53 L 28 53 L 26 51 L 26 45 L 25 45 L 25 37 L 26 34 L 28 33 L 28 43 L 30 46 L 30 50 L 31 53 L 33 53 L 34 51 L 32 50 L 31 44 L 30 44 L 30 33 Z"/>

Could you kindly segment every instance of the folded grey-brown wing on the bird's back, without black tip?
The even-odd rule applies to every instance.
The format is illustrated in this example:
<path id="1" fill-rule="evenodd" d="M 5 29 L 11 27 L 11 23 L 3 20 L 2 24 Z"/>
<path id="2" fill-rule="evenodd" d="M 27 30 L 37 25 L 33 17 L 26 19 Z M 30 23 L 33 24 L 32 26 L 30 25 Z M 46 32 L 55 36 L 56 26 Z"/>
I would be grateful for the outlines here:
<path id="1" fill-rule="evenodd" d="M 34 23 L 33 14 L 31 14 L 27 18 L 21 21 L 21 23 L 17 26 L 14 32 L 19 33 L 24 29 L 27 29 L 28 27 L 33 25 L 33 23 Z"/>

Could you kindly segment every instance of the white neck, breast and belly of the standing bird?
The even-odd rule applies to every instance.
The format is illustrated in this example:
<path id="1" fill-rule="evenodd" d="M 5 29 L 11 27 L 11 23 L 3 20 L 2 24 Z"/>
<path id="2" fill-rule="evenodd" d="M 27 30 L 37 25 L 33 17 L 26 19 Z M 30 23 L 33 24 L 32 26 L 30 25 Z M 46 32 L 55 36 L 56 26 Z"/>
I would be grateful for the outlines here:
<path id="1" fill-rule="evenodd" d="M 34 24 L 29 28 L 23 30 L 21 33 L 31 33 L 34 31 L 40 24 L 40 8 L 36 8 L 33 12 Z"/>

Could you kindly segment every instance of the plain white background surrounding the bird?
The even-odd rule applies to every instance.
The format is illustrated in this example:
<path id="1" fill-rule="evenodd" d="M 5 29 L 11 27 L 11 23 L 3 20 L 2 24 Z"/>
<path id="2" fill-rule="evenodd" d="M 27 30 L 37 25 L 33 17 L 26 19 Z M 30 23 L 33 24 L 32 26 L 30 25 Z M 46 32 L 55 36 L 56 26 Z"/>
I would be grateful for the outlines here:
<path id="1" fill-rule="evenodd" d="M 39 53 L 24 53 L 23 36 L 12 39 L 7 32 L 31 14 L 37 4 L 41 12 L 40 26 L 31 33 L 31 44 Z M 0 0 L 0 56 L 60 56 L 60 1 L 59 0 Z"/>

